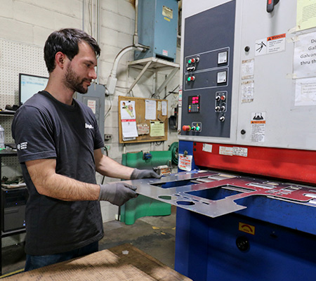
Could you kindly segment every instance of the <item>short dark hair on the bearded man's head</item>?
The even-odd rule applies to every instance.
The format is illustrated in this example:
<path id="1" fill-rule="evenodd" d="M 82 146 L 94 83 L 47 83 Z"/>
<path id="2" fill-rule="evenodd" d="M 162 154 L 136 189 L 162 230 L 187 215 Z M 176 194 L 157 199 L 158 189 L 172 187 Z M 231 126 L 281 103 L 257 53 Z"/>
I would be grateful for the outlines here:
<path id="1" fill-rule="evenodd" d="M 100 47 L 96 39 L 86 34 L 82 30 L 66 28 L 58 30 L 49 35 L 44 47 L 44 59 L 49 73 L 55 69 L 55 54 L 58 52 L 65 53 L 67 58 L 72 60 L 79 53 L 78 44 L 82 41 L 88 43 L 96 55 L 100 55 Z"/>

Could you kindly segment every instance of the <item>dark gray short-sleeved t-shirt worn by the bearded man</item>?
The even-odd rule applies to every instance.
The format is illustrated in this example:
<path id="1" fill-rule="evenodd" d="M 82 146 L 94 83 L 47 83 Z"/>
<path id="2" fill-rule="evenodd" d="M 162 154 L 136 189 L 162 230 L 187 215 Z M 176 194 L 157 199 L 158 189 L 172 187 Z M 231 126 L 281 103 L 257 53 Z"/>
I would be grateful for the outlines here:
<path id="1" fill-rule="evenodd" d="M 76 100 L 74 105 L 65 105 L 41 91 L 15 113 L 12 135 L 29 191 L 26 253 L 57 254 L 100 240 L 100 203 L 40 195 L 25 165 L 29 160 L 55 158 L 57 174 L 96 183 L 93 150 L 103 148 L 104 143 L 92 110 Z"/>

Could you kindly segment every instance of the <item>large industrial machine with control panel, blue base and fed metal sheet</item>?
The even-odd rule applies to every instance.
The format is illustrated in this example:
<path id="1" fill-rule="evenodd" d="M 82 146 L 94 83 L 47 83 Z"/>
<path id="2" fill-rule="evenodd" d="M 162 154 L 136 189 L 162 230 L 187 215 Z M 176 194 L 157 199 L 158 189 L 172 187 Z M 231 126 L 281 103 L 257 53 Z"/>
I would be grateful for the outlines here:
<path id="1" fill-rule="evenodd" d="M 183 1 L 176 205 L 192 280 L 315 280 L 316 1 Z M 315 69 L 315 70 L 314 70 Z"/>

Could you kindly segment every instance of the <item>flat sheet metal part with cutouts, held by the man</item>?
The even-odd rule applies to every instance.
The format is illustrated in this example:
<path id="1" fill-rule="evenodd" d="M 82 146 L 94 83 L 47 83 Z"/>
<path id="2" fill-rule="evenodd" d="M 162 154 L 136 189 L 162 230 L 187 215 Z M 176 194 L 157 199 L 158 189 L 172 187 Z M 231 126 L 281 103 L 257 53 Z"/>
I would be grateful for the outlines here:
<path id="1" fill-rule="evenodd" d="M 316 207 L 314 187 L 217 171 L 180 172 L 160 179 L 146 178 L 126 183 L 136 186 L 140 195 L 211 218 L 246 209 L 237 201 L 250 196 L 265 196 Z"/>

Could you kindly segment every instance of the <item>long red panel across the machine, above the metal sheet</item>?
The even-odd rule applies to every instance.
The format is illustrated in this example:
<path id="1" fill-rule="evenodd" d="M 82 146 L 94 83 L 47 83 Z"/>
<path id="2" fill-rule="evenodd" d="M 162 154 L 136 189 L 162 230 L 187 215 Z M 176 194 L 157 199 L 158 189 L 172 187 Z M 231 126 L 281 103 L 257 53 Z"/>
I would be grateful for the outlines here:
<path id="1" fill-rule="evenodd" d="M 211 152 L 204 151 L 204 143 L 194 143 L 193 155 L 198 166 L 316 184 L 316 151 L 208 145 L 212 145 Z"/>

